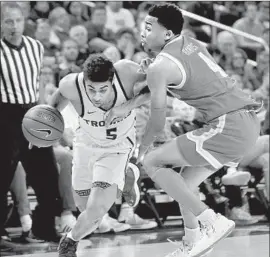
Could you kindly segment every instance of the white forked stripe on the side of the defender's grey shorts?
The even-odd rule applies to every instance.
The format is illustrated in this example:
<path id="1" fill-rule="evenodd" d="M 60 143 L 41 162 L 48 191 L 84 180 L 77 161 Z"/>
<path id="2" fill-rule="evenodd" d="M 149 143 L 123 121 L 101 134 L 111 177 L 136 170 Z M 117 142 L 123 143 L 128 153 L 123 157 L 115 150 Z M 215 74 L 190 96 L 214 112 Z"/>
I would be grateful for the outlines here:
<path id="1" fill-rule="evenodd" d="M 196 144 L 196 151 L 199 153 L 204 159 L 206 159 L 214 168 L 220 169 L 223 165 L 207 150 L 203 149 L 203 143 L 206 140 L 214 137 L 217 134 L 222 133 L 225 126 L 226 114 L 222 115 L 218 118 L 218 124 L 215 129 L 211 128 L 208 132 L 203 133 L 200 136 L 195 136 L 193 131 L 188 132 L 187 138 Z"/>

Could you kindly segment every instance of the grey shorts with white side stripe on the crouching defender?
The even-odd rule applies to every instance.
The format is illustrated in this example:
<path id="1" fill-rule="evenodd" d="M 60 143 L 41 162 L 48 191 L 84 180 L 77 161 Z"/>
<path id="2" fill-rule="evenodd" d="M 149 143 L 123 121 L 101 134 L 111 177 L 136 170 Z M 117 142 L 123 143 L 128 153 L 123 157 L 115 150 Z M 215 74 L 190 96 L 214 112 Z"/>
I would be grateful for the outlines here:
<path id="1" fill-rule="evenodd" d="M 236 167 L 258 138 L 255 115 L 244 110 L 223 115 L 180 137 L 179 149 L 192 166 L 210 164 L 217 170 L 224 165 Z"/>

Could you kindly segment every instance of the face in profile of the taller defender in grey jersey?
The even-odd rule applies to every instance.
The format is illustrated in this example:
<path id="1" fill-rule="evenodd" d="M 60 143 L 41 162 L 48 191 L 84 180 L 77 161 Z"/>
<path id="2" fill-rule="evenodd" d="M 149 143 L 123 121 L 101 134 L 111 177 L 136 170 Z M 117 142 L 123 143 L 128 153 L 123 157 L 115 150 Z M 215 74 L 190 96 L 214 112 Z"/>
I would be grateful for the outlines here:
<path id="1" fill-rule="evenodd" d="M 160 52 L 166 44 L 165 35 L 166 29 L 158 23 L 158 19 L 147 15 L 141 32 L 142 46 L 151 49 L 151 51 Z"/>

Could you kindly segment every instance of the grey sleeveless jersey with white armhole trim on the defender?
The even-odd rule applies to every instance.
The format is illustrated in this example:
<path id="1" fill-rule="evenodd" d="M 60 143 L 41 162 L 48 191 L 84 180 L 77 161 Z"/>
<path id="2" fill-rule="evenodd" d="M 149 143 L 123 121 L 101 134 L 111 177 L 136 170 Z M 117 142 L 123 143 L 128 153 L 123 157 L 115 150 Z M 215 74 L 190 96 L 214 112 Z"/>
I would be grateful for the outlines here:
<path id="1" fill-rule="evenodd" d="M 235 86 L 207 49 L 195 39 L 179 36 L 169 42 L 159 56 L 172 60 L 183 76 L 181 84 L 169 85 L 168 91 L 195 107 L 204 122 L 245 106 L 254 109 L 261 106 Z"/>

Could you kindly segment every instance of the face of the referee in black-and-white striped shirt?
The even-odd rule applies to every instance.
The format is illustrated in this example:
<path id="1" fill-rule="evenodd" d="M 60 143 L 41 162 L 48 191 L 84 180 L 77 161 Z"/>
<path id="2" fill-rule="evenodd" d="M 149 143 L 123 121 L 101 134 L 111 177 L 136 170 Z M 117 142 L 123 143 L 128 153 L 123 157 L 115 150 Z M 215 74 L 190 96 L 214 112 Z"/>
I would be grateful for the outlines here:
<path id="1" fill-rule="evenodd" d="M 6 8 L 1 18 L 1 31 L 7 40 L 18 40 L 24 31 L 23 13 L 17 8 Z"/>

